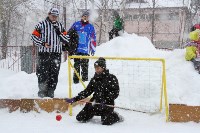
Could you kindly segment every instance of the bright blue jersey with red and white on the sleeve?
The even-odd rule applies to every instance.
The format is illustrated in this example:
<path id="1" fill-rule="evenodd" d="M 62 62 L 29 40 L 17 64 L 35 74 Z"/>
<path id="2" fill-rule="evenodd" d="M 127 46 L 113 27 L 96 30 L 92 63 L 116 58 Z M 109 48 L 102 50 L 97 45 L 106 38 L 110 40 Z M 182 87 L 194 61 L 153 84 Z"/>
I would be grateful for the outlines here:
<path id="1" fill-rule="evenodd" d="M 94 26 L 90 23 L 83 24 L 81 21 L 75 22 L 71 29 L 75 29 L 79 35 L 79 43 L 76 52 L 83 54 L 95 53 L 96 33 Z"/>

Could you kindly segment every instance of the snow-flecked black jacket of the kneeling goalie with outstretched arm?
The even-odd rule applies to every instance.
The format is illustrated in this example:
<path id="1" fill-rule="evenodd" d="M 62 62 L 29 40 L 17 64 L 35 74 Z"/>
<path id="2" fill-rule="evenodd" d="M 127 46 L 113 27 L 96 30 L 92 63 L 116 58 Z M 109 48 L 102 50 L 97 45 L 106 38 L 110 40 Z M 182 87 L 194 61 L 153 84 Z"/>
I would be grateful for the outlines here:
<path id="1" fill-rule="evenodd" d="M 115 75 L 110 74 L 109 70 L 104 70 L 100 75 L 95 74 L 90 80 L 87 88 L 80 92 L 74 99 L 79 101 L 87 98 L 92 93 L 90 102 L 114 105 L 114 100 L 119 95 L 119 83 Z"/>

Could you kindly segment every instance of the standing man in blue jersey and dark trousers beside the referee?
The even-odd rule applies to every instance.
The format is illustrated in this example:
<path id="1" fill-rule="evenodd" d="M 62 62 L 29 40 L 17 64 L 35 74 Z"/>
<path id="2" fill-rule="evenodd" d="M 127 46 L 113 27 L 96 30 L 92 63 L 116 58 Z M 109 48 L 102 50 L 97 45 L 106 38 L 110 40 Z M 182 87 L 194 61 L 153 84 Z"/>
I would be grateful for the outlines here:
<path id="1" fill-rule="evenodd" d="M 89 23 L 89 15 L 88 11 L 84 12 L 81 20 L 75 22 L 71 27 L 71 29 L 77 31 L 79 36 L 79 42 L 75 52 L 79 56 L 93 56 L 96 50 L 96 33 L 94 26 Z M 83 81 L 88 81 L 88 63 L 89 59 L 74 59 L 74 68 L 81 74 Z M 79 79 L 75 73 L 73 81 L 75 84 L 79 83 Z"/>

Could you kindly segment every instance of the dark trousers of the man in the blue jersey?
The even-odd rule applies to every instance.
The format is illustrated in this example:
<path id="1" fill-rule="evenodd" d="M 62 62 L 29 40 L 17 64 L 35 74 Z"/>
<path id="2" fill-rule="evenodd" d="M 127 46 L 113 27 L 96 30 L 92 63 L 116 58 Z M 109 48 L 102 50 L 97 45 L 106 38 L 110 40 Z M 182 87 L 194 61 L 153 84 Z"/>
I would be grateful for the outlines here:
<path id="1" fill-rule="evenodd" d="M 82 54 L 82 53 L 78 53 L 76 55 L 89 56 L 88 54 Z M 78 72 L 79 76 L 81 74 L 83 81 L 88 81 L 88 64 L 89 64 L 89 59 L 74 59 L 74 68 Z M 74 83 L 79 82 L 79 79 L 77 75 L 75 74 L 75 72 L 74 72 L 73 80 L 74 80 Z"/>

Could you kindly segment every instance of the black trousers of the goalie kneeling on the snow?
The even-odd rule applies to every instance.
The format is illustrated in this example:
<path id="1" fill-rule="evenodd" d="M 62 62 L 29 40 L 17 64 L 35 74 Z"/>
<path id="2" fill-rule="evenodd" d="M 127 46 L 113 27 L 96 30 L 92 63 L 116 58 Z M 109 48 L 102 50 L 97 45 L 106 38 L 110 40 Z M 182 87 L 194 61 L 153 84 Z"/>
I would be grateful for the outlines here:
<path id="1" fill-rule="evenodd" d="M 103 125 L 112 125 L 120 120 L 118 114 L 114 112 L 112 107 L 102 107 L 101 105 L 92 105 L 87 103 L 85 107 L 76 116 L 76 119 L 80 122 L 87 122 L 94 116 L 101 116 L 101 122 Z"/>

